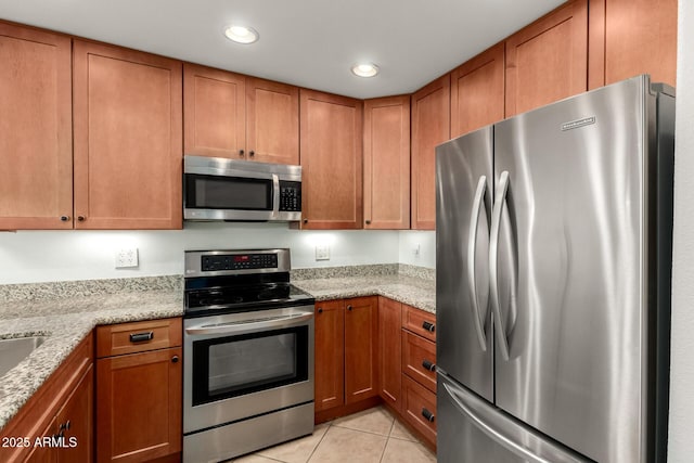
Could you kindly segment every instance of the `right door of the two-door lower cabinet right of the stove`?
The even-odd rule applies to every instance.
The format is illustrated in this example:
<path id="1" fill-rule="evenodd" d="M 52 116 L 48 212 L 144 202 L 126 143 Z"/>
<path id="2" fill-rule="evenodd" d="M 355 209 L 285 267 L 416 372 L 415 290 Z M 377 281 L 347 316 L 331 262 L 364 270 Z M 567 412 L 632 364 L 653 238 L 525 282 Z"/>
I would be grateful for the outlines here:
<path id="1" fill-rule="evenodd" d="M 345 403 L 378 395 L 378 299 L 345 299 Z"/>

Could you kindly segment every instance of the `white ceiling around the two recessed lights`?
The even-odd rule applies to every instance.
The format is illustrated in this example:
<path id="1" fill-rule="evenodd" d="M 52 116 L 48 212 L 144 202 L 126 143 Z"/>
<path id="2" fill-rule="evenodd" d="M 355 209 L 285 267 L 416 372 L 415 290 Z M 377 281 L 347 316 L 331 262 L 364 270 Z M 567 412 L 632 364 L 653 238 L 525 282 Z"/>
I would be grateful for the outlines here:
<path id="1" fill-rule="evenodd" d="M 360 99 L 410 93 L 564 0 L 0 0 L 0 18 Z M 224 26 L 260 34 L 228 41 Z M 371 79 L 349 68 L 370 61 Z"/>

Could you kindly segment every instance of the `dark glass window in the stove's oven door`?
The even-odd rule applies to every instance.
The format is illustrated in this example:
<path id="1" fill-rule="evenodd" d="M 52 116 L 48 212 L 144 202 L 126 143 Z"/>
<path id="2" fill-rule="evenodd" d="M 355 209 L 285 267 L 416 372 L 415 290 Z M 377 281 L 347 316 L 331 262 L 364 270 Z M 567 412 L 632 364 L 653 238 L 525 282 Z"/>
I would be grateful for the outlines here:
<path id="1" fill-rule="evenodd" d="M 308 380 L 308 326 L 193 343 L 193 406 Z"/>

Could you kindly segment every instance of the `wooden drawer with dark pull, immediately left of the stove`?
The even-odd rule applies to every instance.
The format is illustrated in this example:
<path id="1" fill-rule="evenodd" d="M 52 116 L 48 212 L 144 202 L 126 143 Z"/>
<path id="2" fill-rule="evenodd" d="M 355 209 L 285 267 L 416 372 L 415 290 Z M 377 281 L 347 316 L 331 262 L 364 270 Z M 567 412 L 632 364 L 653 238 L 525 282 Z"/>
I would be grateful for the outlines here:
<path id="1" fill-rule="evenodd" d="M 97 327 L 97 357 L 123 356 L 181 346 L 180 318 Z"/>

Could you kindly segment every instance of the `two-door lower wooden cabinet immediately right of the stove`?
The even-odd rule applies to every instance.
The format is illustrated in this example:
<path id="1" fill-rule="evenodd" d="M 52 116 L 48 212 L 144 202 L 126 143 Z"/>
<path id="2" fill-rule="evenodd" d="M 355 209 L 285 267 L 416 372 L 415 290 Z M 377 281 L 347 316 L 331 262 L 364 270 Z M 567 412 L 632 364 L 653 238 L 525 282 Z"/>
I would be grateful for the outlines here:
<path id="1" fill-rule="evenodd" d="M 316 303 L 317 421 L 378 396 L 377 310 L 375 296 Z"/>

